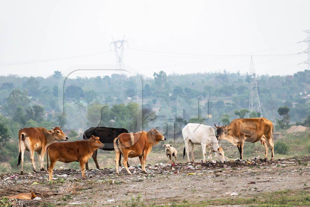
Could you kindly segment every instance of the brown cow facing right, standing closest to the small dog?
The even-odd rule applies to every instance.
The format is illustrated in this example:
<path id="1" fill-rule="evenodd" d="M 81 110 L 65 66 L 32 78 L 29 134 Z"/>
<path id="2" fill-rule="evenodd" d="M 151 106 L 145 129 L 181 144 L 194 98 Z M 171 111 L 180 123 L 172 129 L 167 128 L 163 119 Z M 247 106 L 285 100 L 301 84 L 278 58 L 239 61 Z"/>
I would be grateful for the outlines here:
<path id="1" fill-rule="evenodd" d="M 166 140 L 161 133 L 152 128 L 150 131 L 137 132 L 137 133 L 122 133 L 118 135 L 113 141 L 115 150 L 115 164 L 116 173 L 118 172 L 118 160 L 123 155 L 123 164 L 127 172 L 131 175 L 131 172 L 127 166 L 128 157 L 139 157 L 142 171 L 146 172 L 145 160 L 148 154 L 152 151 L 152 146 L 157 145 L 158 142 Z"/>

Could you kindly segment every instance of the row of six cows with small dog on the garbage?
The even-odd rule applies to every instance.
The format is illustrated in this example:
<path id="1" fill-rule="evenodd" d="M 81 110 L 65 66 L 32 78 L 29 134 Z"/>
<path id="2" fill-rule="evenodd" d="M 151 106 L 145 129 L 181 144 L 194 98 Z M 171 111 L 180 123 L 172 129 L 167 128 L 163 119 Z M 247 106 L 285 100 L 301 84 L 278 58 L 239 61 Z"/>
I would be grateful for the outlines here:
<path id="1" fill-rule="evenodd" d="M 238 147 L 240 159 L 242 159 L 244 142 L 260 141 L 265 147 L 265 158 L 268 155 L 268 149 L 271 148 L 271 158 L 273 153 L 273 124 L 265 118 L 235 119 L 228 126 L 217 126 L 216 135 L 213 127 L 203 124 L 187 124 L 182 129 L 184 138 L 184 151 L 187 154 L 187 161 L 190 162 L 189 153 L 191 153 L 194 162 L 194 145 L 198 144 L 202 147 L 203 162 L 206 162 L 206 149 L 209 158 L 212 160 L 211 152 L 215 153 L 215 157 L 220 162 L 225 161 L 224 151 L 219 147 L 218 140 L 225 139 Z M 69 163 L 79 162 L 82 178 L 85 179 L 84 166 L 88 170 L 88 160 L 90 157 L 95 161 L 97 169 L 100 168 L 97 161 L 98 149 L 115 151 L 116 173 L 118 166 L 121 166 L 121 156 L 123 156 L 123 165 L 127 173 L 131 174 L 128 169 L 128 158 L 139 157 L 141 169 L 147 173 L 145 168 L 146 158 L 152 151 L 152 147 L 160 141 L 166 140 L 156 128 L 150 129 L 148 132 L 130 132 L 124 128 L 109 127 L 91 127 L 83 134 L 83 140 L 75 142 L 59 142 L 67 141 L 68 137 L 61 130 L 61 127 L 53 127 L 47 130 L 43 127 L 38 128 L 22 128 L 19 130 L 19 157 L 18 164 L 21 164 L 20 173 L 23 173 L 24 151 L 30 152 L 30 160 L 33 165 L 33 171 L 37 171 L 34 163 L 34 152 L 37 152 L 40 170 L 44 171 L 44 156 L 47 154 L 47 170 L 49 179 L 52 180 L 52 172 L 56 161 Z M 177 150 L 173 145 L 165 144 L 165 153 L 171 164 L 176 163 Z M 175 161 L 173 161 L 173 157 Z M 49 162 L 50 161 L 50 162 Z M 50 163 L 50 165 L 49 165 Z"/>

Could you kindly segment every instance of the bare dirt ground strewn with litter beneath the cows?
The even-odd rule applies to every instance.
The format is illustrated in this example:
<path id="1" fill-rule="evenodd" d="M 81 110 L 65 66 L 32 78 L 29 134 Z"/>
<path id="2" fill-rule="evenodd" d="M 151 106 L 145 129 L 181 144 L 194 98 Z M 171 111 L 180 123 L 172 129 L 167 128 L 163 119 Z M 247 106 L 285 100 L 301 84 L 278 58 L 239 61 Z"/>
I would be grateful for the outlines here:
<path id="1" fill-rule="evenodd" d="M 161 163 L 148 165 L 148 174 L 142 173 L 139 166 L 130 170 L 133 175 L 127 175 L 126 169 L 122 168 L 120 176 L 111 168 L 88 170 L 87 180 L 81 179 L 78 170 L 54 170 L 53 182 L 47 180 L 46 172 L 1 174 L 0 195 L 4 195 L 7 189 L 18 192 L 25 187 L 35 193 L 57 192 L 64 182 L 77 182 L 78 188 L 67 194 L 45 196 L 24 203 L 27 206 L 206 206 L 270 202 L 273 205 L 277 202 L 310 205 L 309 158 Z M 277 201 L 275 198 L 281 197 L 279 195 L 282 199 Z"/>

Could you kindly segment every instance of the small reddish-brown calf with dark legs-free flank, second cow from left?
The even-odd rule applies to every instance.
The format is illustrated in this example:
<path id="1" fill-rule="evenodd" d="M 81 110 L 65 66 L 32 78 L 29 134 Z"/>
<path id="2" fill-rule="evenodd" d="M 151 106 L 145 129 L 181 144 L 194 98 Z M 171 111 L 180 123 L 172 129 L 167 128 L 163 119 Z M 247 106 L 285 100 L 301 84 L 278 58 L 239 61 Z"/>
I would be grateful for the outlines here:
<path id="1" fill-rule="evenodd" d="M 75 142 L 59 142 L 51 144 L 47 147 L 47 170 L 48 177 L 53 180 L 53 169 L 55 162 L 64 163 L 79 162 L 82 178 L 85 180 L 84 164 L 88 162 L 95 150 L 104 147 L 104 144 L 99 141 L 99 137 L 92 135 L 89 139 Z M 48 157 L 50 157 L 51 165 L 48 166 Z"/>

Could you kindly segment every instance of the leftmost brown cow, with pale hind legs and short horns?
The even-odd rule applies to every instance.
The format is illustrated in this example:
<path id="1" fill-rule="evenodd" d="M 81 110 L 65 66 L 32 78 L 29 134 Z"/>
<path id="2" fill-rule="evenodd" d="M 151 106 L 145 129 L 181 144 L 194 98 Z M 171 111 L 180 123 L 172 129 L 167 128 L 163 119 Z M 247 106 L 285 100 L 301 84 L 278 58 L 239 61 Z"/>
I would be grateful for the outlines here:
<path id="1" fill-rule="evenodd" d="M 47 146 L 54 142 L 68 140 L 68 137 L 60 129 L 61 127 L 53 127 L 52 130 L 47 130 L 44 127 L 37 128 L 22 128 L 18 132 L 18 142 L 19 142 L 19 156 L 18 164 L 21 163 L 20 173 L 23 174 L 24 166 L 24 151 L 27 150 L 30 152 L 30 160 L 33 166 L 33 171 L 37 172 L 36 166 L 34 164 L 34 152 L 37 152 L 40 170 L 44 169 L 44 155 L 46 152 Z"/>

